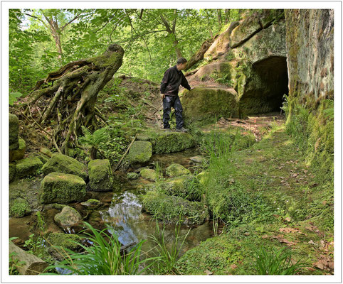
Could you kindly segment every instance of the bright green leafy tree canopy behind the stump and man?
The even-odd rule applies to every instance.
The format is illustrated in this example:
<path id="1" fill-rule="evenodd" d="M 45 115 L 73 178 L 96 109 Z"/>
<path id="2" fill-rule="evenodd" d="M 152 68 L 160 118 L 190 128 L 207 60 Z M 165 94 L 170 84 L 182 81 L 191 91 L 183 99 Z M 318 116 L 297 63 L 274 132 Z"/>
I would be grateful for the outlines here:
<path id="1" fill-rule="evenodd" d="M 159 82 L 176 58 L 191 58 L 241 18 L 237 9 L 10 9 L 9 87 L 25 97 L 60 66 L 125 51 L 118 74 Z M 19 94 L 20 93 L 20 94 Z"/>

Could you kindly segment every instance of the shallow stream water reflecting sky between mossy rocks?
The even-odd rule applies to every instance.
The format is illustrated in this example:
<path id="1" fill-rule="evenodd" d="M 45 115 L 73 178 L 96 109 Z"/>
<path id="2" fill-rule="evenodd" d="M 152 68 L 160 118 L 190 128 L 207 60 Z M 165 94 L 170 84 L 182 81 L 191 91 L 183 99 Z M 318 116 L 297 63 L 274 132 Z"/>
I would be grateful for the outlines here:
<path id="1" fill-rule="evenodd" d="M 151 162 L 159 163 L 163 173 L 171 163 L 184 165 L 185 168 L 189 168 L 193 173 L 194 167 L 189 164 L 189 158 L 194 155 L 199 155 L 199 152 L 192 148 L 179 153 L 153 155 Z M 120 193 L 113 194 L 110 207 L 100 211 L 102 220 L 115 228 L 115 233 L 123 245 L 146 240 L 142 246 L 143 251 L 149 251 L 156 245 L 152 241 L 151 236 L 155 234 L 157 229 L 157 223 L 152 219 L 151 215 L 142 212 L 142 204 L 139 200 L 139 195 L 144 193 L 144 190 L 139 190 L 139 188 L 146 183 L 147 181 L 142 180 L 142 178 L 134 182 L 127 180 L 123 184 L 124 190 Z M 162 229 L 160 222 L 159 229 Z M 201 241 L 205 241 L 213 236 L 213 227 L 210 222 L 205 222 L 200 226 L 181 226 L 179 231 L 181 241 L 187 233 L 188 236 L 182 246 L 181 254 L 199 245 Z M 164 236 L 166 244 L 172 244 L 174 242 L 174 224 L 164 225 Z"/>

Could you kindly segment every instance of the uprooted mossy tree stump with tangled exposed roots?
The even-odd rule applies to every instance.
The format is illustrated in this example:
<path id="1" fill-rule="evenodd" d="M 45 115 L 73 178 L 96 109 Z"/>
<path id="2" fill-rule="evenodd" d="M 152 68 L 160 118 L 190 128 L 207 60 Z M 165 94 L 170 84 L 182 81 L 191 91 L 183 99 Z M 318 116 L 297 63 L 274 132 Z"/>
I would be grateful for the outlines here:
<path id="1" fill-rule="evenodd" d="M 120 68 L 123 55 L 122 47 L 112 44 L 100 56 L 70 62 L 39 80 L 23 104 L 26 116 L 52 129 L 51 142 L 65 155 L 78 146 L 81 126 L 90 131 L 99 127 L 97 94 Z"/>

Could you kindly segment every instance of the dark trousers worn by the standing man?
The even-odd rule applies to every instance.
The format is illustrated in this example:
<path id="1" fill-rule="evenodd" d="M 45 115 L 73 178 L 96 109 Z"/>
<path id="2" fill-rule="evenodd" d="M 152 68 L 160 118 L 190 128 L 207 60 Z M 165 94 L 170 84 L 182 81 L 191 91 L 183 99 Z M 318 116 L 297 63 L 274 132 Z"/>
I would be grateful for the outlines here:
<path id="1" fill-rule="evenodd" d="M 169 119 L 171 107 L 175 109 L 176 129 L 181 129 L 184 126 L 184 119 L 182 119 L 182 106 L 179 96 L 166 96 L 163 99 L 163 126 L 164 129 L 169 129 Z"/>

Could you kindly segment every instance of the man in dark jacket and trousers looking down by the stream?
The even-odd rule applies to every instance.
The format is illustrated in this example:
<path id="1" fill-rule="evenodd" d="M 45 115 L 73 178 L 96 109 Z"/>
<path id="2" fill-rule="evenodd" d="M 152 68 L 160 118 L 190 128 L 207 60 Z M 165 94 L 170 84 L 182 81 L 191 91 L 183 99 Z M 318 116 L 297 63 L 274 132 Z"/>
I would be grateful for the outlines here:
<path id="1" fill-rule="evenodd" d="M 180 98 L 178 96 L 179 87 L 185 87 L 186 89 L 191 90 L 184 73 L 181 70 L 184 70 L 187 65 L 187 60 L 185 58 L 179 58 L 176 61 L 174 67 L 170 67 L 166 72 L 161 82 L 161 98 L 163 99 L 163 126 L 164 129 L 170 129 L 169 119 L 171 107 L 175 109 L 176 116 L 176 131 L 187 132 L 187 129 L 184 129 L 184 119 L 182 119 L 182 106 Z"/>

